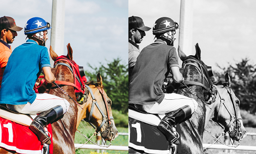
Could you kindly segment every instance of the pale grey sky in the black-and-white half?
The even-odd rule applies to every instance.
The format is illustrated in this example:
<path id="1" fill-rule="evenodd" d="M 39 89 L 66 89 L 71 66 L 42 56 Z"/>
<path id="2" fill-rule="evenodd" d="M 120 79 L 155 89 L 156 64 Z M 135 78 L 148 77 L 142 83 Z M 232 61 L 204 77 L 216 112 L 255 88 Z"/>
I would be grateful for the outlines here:
<path id="1" fill-rule="evenodd" d="M 228 63 L 235 64 L 248 58 L 249 63 L 256 64 L 255 8 L 256 1 L 253 0 L 193 0 L 193 55 L 195 45 L 199 43 L 201 59 L 218 72 L 217 63 L 227 67 Z M 141 17 L 145 26 L 151 28 L 163 16 L 180 23 L 180 0 L 129 0 L 129 16 L 132 15 Z M 174 43 L 176 49 L 178 35 L 179 30 Z M 151 29 L 139 44 L 140 49 L 153 41 Z"/>

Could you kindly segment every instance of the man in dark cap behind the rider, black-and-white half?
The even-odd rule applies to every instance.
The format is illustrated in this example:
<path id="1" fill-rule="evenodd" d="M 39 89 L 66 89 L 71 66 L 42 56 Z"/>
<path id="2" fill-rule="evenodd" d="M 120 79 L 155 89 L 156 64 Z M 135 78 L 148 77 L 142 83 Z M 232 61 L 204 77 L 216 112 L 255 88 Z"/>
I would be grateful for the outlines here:
<path id="1" fill-rule="evenodd" d="M 137 43 L 142 41 L 143 36 L 146 35 L 145 31 L 150 29 L 144 25 L 142 18 L 138 16 L 129 17 L 129 83 L 137 57 L 140 54 Z"/>

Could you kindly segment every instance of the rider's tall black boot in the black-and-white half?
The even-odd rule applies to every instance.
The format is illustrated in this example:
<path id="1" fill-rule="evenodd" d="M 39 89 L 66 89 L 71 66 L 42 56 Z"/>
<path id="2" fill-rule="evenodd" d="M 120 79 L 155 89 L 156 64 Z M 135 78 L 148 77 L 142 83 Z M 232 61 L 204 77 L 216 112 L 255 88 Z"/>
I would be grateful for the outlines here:
<path id="1" fill-rule="evenodd" d="M 190 106 L 183 106 L 176 111 L 165 115 L 158 125 L 158 129 L 165 135 L 167 141 L 174 144 L 180 144 L 179 135 L 176 135 L 177 132 L 174 132 L 173 126 L 181 123 L 182 120 L 191 115 Z"/>

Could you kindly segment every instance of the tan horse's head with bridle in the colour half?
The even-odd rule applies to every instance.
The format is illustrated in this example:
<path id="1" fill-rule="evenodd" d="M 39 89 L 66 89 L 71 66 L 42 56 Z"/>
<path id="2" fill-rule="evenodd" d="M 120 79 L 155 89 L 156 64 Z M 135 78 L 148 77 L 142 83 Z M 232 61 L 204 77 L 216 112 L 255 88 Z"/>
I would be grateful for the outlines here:
<path id="1" fill-rule="evenodd" d="M 97 83 L 87 82 L 90 87 L 90 94 L 87 103 L 81 105 L 84 109 L 78 108 L 78 122 L 84 119 L 96 126 L 97 131 L 105 140 L 114 140 L 118 136 L 118 131 L 112 116 L 112 101 L 105 93 L 100 74 L 97 75 Z M 93 94 L 93 95 L 92 95 Z"/>

